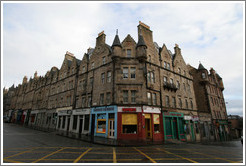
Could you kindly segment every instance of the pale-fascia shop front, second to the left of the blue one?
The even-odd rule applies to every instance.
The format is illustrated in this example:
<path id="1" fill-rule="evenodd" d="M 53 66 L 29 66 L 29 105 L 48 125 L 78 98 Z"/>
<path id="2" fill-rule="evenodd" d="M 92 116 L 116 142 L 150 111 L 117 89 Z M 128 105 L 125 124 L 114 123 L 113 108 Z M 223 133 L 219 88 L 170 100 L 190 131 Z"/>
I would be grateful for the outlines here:
<path id="1" fill-rule="evenodd" d="M 58 117 L 56 129 L 58 131 L 69 132 L 72 107 L 58 108 L 56 112 Z"/>

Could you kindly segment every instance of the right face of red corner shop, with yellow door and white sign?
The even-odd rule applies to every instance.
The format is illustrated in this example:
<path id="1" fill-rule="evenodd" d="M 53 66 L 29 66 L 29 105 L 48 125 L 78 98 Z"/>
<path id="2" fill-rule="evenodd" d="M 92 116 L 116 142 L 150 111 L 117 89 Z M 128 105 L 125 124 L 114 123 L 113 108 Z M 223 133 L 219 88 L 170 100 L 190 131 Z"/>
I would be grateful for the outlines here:
<path id="1" fill-rule="evenodd" d="M 163 125 L 161 121 L 161 109 L 143 106 L 144 132 L 146 139 L 153 141 L 163 140 Z"/>

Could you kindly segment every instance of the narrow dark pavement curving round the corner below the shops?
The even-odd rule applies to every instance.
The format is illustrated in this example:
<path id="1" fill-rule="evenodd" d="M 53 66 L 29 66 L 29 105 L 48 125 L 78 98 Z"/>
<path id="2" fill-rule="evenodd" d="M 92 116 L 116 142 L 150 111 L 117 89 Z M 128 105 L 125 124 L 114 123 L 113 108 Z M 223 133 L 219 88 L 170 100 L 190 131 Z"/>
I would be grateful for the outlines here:
<path id="1" fill-rule="evenodd" d="M 139 147 L 139 146 L 151 146 L 151 145 L 163 145 L 163 144 L 183 144 L 185 142 L 180 141 L 143 141 L 143 140 L 115 140 L 110 138 L 103 138 L 103 137 L 96 137 L 96 136 L 89 136 L 89 135 L 80 135 L 76 133 L 69 133 L 69 132 L 62 132 L 57 131 L 57 135 L 65 136 L 72 139 L 78 139 L 94 144 L 100 144 L 100 145 L 107 145 L 107 146 L 121 146 L 121 147 Z"/>

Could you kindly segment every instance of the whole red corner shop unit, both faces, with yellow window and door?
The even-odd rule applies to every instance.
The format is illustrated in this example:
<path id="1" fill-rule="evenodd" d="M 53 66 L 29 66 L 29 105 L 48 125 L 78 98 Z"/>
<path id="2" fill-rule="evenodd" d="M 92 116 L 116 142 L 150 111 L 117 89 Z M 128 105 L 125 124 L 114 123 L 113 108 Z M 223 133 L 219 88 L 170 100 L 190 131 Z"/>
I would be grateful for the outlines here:
<path id="1" fill-rule="evenodd" d="M 118 107 L 119 140 L 163 141 L 163 128 L 160 108 Z"/>

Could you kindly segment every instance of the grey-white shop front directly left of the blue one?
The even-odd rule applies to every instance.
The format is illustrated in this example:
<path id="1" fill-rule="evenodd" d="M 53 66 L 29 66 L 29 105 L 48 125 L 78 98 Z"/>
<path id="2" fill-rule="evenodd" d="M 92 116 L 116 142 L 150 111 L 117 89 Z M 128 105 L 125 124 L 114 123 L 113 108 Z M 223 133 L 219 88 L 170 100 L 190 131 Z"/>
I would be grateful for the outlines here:
<path id="1" fill-rule="evenodd" d="M 70 131 L 78 134 L 88 134 L 90 126 L 90 109 L 72 111 Z"/>

